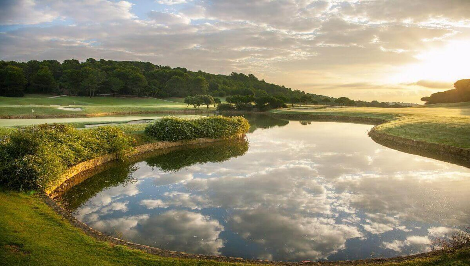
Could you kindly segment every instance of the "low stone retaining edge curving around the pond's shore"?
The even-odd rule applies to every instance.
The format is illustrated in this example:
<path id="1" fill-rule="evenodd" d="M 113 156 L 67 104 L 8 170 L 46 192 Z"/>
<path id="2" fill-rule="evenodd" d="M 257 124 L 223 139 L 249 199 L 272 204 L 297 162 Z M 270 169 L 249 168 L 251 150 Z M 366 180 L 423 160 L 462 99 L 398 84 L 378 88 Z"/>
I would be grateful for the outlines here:
<path id="1" fill-rule="evenodd" d="M 238 113 L 238 112 L 237 112 Z M 247 112 L 243 112 L 247 113 Z M 252 112 L 251 112 L 252 113 Z M 344 116 L 331 116 L 331 115 L 310 115 L 310 114 L 269 114 L 273 117 L 279 118 L 288 118 L 288 119 L 300 119 L 300 120 L 315 120 L 315 121 L 329 121 L 329 122 L 353 122 L 353 123 L 363 123 L 363 124 L 374 124 L 378 125 L 383 123 L 383 120 L 374 119 L 374 118 L 362 118 L 362 117 L 344 117 Z M 373 128 L 374 129 L 374 128 Z M 414 140 L 409 140 L 406 138 L 398 139 L 389 136 L 388 134 L 384 134 L 385 136 L 381 136 L 381 134 L 371 133 L 373 129 L 369 131 L 369 136 L 371 136 L 374 141 L 378 138 L 379 140 L 388 140 L 392 143 L 398 144 L 407 144 L 407 145 L 416 145 L 421 149 L 426 149 L 430 147 L 429 144 L 425 145 L 426 143 L 416 142 Z M 241 136 L 240 136 L 241 137 Z M 238 137 L 238 138 L 240 138 Z M 235 138 L 236 139 L 236 138 Z M 138 157 L 138 155 L 143 155 L 149 152 L 155 151 L 165 151 L 168 148 L 178 147 L 182 145 L 191 145 L 191 144 L 209 144 L 211 142 L 218 142 L 223 141 L 222 139 L 208 139 L 208 138 L 199 138 L 193 140 L 185 140 L 185 141 L 177 141 L 177 142 L 156 142 L 150 144 L 143 144 L 137 147 L 134 147 L 133 151 L 128 152 L 125 156 L 129 158 Z M 377 141 L 376 141 L 377 142 Z M 379 143 L 379 142 L 377 142 Z M 415 143 L 415 144 L 413 144 Z M 381 143 L 379 143 L 381 144 Z M 431 145 L 432 146 L 432 145 Z M 444 145 L 446 146 L 446 145 Z M 457 152 L 457 150 L 449 150 L 450 152 Z M 413 260 L 417 258 L 431 258 L 434 256 L 439 256 L 449 251 L 439 250 L 439 251 L 430 251 L 426 253 L 420 253 L 415 255 L 409 256 L 398 256 L 392 258 L 369 258 L 369 259 L 360 259 L 360 260 L 351 260 L 351 261 L 316 261 L 316 262 L 283 262 L 283 261 L 271 261 L 271 260 L 261 260 L 261 259 L 246 259 L 246 258 L 234 258 L 234 257 L 226 257 L 226 256 L 216 256 L 216 255 L 204 255 L 204 254 L 188 254 L 186 252 L 179 252 L 179 251 L 169 251 L 163 250 L 156 247 L 151 247 L 147 245 L 142 245 L 139 243 L 132 243 L 127 242 L 119 238 L 115 238 L 112 236 L 108 236 L 100 231 L 95 230 L 94 228 L 89 227 L 82 221 L 76 219 L 67 209 L 64 207 L 68 205 L 66 202 L 62 202 L 62 195 L 65 191 L 77 185 L 78 183 L 86 180 L 87 178 L 95 175 L 97 171 L 102 171 L 103 168 L 106 168 L 107 165 L 112 167 L 112 162 L 115 162 L 118 159 L 117 154 L 107 154 L 92 160 L 88 160 L 82 162 L 78 165 L 70 167 L 69 170 L 63 175 L 63 179 L 60 181 L 60 184 L 55 186 L 53 191 L 47 191 L 46 194 L 43 194 L 41 198 L 43 201 L 49 206 L 51 209 L 55 211 L 55 213 L 61 215 L 64 219 L 71 223 L 76 228 L 81 229 L 88 236 L 92 236 L 97 240 L 106 241 L 109 243 L 125 245 L 132 249 L 137 249 L 141 251 L 145 251 L 149 254 L 154 254 L 161 257 L 168 257 L 168 258 L 190 258 L 190 259 L 204 259 L 204 260 L 214 260 L 218 262 L 238 262 L 238 263 L 246 263 L 246 264 L 269 264 L 269 265 L 304 265 L 304 264 L 315 264 L 315 265 L 330 265 L 334 263 L 335 265 L 359 265 L 359 264 L 366 264 L 366 263 L 373 263 L 373 264 L 384 264 L 384 263 L 393 263 L 393 262 L 403 262 L 408 260 Z M 453 252 L 452 250 L 450 252 Z"/>

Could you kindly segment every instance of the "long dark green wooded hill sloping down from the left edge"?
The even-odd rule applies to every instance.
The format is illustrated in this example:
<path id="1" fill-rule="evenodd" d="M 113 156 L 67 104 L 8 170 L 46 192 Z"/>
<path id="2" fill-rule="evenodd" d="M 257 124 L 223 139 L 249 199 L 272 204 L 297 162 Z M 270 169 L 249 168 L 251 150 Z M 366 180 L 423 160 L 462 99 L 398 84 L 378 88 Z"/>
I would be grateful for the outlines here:
<path id="1" fill-rule="evenodd" d="M 194 95 L 283 95 L 290 98 L 306 95 L 305 91 L 266 83 L 252 74 L 232 72 L 230 75 L 214 75 L 150 62 L 93 58 L 84 62 L 68 59 L 62 63 L 56 60 L 0 61 L 0 96 L 21 97 L 25 93 L 90 97 L 120 94 L 159 98 Z"/>

